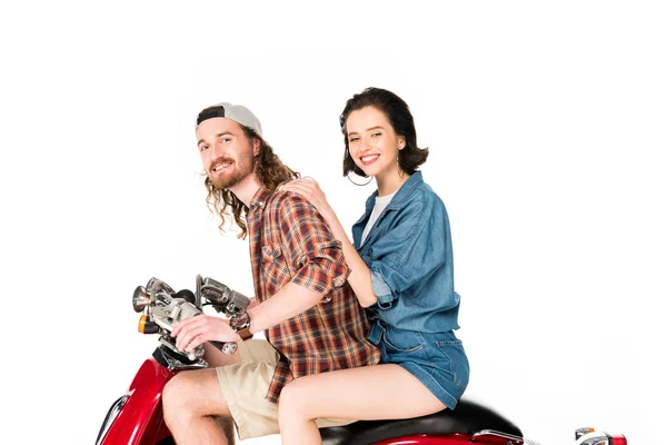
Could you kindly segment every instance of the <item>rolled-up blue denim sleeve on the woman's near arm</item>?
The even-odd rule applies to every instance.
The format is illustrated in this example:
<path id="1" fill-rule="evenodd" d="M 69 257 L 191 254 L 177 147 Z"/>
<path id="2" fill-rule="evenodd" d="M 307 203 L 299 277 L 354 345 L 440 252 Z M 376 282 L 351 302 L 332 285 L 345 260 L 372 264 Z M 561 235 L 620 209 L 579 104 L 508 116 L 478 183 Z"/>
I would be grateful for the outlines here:
<path id="1" fill-rule="evenodd" d="M 372 244 L 369 268 L 381 309 L 390 308 L 401 293 L 446 261 L 445 206 L 432 195 L 419 195 L 388 215 L 389 229 Z"/>

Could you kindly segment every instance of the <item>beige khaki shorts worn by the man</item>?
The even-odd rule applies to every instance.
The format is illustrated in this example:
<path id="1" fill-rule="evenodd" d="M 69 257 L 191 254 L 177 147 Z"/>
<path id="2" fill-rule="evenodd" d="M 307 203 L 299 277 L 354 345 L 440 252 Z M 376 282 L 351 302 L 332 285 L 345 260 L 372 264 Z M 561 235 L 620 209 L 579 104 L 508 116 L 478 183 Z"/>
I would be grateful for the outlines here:
<path id="1" fill-rule="evenodd" d="M 239 343 L 240 365 L 216 368 L 218 382 L 239 438 L 279 434 L 278 405 L 267 400 L 269 384 L 280 358 L 278 352 L 263 339 L 249 339 Z M 351 424 L 351 419 L 318 418 L 317 426 L 340 426 Z"/>

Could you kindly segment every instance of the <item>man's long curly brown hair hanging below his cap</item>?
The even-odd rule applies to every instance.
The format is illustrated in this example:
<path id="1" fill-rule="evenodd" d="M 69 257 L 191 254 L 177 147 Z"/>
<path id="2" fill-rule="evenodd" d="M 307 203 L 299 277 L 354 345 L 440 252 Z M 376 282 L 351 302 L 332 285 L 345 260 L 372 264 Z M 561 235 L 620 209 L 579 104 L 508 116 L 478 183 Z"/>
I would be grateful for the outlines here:
<path id="1" fill-rule="evenodd" d="M 273 152 L 271 146 L 253 129 L 243 125 L 241 125 L 241 128 L 248 140 L 252 141 L 253 139 L 257 139 L 260 142 L 259 155 L 253 159 L 253 169 L 257 178 L 269 195 L 272 195 L 280 184 L 300 177 L 298 171 L 295 171 L 282 164 L 280 158 L 278 158 L 278 155 Z M 226 218 L 233 216 L 233 220 L 241 229 L 241 233 L 237 238 L 245 239 L 248 236 L 248 226 L 246 224 L 248 206 L 230 190 L 216 188 L 213 182 L 206 175 L 206 171 L 202 175 L 205 176 L 203 185 L 208 191 L 206 204 L 211 214 L 219 215 L 221 219 L 218 228 L 220 231 L 225 231 Z"/>

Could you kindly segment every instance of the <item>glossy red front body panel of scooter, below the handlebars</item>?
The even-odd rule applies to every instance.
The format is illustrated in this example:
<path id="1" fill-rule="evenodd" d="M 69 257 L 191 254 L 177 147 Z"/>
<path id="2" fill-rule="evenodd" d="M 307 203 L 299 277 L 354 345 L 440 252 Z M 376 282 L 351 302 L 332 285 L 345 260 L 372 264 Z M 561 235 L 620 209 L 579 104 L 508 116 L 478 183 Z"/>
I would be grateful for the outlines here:
<path id="1" fill-rule="evenodd" d="M 127 394 L 113 403 L 97 445 L 149 445 L 169 436 L 162 418 L 162 390 L 178 372 L 155 358 L 143 362 Z"/>

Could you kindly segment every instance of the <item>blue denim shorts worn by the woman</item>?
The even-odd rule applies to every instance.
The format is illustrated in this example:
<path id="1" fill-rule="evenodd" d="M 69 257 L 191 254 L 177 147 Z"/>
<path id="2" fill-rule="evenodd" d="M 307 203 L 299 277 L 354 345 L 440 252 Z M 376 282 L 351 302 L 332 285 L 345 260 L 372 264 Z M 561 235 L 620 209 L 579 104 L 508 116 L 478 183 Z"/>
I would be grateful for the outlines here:
<path id="1" fill-rule="evenodd" d="M 404 367 L 448 408 L 456 408 L 468 386 L 470 367 L 454 332 L 431 334 L 382 326 L 378 347 L 380 363 Z"/>

